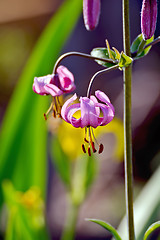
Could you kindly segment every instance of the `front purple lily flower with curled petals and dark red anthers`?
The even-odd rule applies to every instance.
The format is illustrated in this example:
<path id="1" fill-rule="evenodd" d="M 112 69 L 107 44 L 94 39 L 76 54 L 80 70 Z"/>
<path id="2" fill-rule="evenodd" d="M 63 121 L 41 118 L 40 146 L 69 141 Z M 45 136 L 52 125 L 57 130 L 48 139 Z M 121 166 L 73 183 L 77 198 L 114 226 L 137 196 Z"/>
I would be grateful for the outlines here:
<path id="1" fill-rule="evenodd" d="M 99 103 L 97 98 L 102 102 Z M 95 96 L 88 97 L 80 97 L 79 101 L 80 103 L 74 103 L 72 104 L 76 99 L 77 95 L 74 94 L 70 99 L 68 99 L 61 109 L 61 116 L 62 118 L 72 124 L 76 128 L 85 128 L 85 143 L 89 144 L 88 147 L 88 154 L 91 156 L 91 148 L 93 152 L 96 152 L 94 141 L 92 140 L 92 137 L 94 138 L 95 142 L 99 145 L 99 151 L 98 153 L 101 153 L 103 151 L 103 145 L 99 144 L 94 136 L 93 129 L 97 128 L 98 126 L 104 126 L 112 121 L 114 118 L 114 107 L 111 104 L 109 98 L 107 95 L 97 90 L 95 92 Z M 72 104 L 72 105 L 71 105 Z M 75 118 L 74 114 L 80 111 L 81 117 Z M 102 112 L 103 116 L 100 115 Z M 89 134 L 89 140 L 87 140 L 87 130 Z M 91 148 L 90 148 L 91 146 Z M 82 144 L 82 150 L 86 153 L 85 145 Z"/>

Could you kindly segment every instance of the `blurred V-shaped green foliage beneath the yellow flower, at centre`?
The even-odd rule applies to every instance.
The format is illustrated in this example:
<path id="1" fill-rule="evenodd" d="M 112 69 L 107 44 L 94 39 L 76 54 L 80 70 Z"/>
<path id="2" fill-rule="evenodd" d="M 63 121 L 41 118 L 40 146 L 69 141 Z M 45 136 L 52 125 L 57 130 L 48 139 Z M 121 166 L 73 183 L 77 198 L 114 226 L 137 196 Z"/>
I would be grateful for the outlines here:
<path id="1" fill-rule="evenodd" d="M 87 154 L 71 160 L 62 150 L 57 137 L 53 139 L 51 151 L 53 164 L 66 185 L 73 204 L 80 205 L 96 175 L 96 160 L 93 155 L 89 157 Z"/>

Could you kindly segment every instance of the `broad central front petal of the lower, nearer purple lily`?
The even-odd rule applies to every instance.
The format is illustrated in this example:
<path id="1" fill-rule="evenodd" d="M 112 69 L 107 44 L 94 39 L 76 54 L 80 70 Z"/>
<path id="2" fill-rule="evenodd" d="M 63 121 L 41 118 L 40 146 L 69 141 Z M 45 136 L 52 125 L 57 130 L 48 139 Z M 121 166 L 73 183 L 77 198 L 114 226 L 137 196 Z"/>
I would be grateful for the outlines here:
<path id="1" fill-rule="evenodd" d="M 96 128 L 98 126 L 98 116 L 96 112 L 95 103 L 87 98 L 80 98 L 81 106 L 81 127 L 92 126 Z"/>

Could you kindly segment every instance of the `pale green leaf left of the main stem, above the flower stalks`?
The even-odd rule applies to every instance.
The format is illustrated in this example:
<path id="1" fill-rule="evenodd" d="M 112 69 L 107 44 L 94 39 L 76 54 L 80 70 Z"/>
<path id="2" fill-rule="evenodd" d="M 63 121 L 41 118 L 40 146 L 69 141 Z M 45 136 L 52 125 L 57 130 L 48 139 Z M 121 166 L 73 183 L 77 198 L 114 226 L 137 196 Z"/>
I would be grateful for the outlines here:
<path id="1" fill-rule="evenodd" d="M 110 50 L 112 56 L 114 58 L 116 58 L 116 54 L 114 51 Z M 109 53 L 108 53 L 108 50 L 107 48 L 94 48 L 92 51 L 91 51 L 91 55 L 94 56 L 94 57 L 99 57 L 99 58 L 104 58 L 104 59 L 109 59 L 110 56 L 109 56 Z M 99 60 L 95 60 L 98 64 L 104 66 L 104 67 L 112 67 L 114 65 L 116 65 L 117 63 L 108 63 L 108 62 L 103 62 L 103 61 L 99 61 Z"/>

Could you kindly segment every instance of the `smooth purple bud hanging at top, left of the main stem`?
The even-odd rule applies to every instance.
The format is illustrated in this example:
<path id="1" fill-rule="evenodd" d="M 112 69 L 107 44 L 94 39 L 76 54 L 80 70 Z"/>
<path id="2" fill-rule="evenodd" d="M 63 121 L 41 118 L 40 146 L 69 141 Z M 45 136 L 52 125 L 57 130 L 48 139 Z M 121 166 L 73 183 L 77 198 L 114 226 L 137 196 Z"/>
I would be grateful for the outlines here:
<path id="1" fill-rule="evenodd" d="M 83 0 L 83 17 L 88 31 L 94 30 L 98 24 L 100 6 L 100 0 Z"/>

